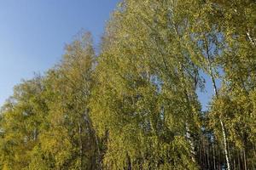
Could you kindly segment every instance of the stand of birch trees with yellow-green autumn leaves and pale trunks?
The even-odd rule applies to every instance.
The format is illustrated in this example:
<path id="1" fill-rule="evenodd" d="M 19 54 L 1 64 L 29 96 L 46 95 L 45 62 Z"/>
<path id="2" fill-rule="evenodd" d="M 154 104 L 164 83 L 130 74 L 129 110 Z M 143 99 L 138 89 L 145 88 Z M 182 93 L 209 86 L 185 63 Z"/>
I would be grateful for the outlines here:
<path id="1" fill-rule="evenodd" d="M 123 0 L 98 45 L 15 86 L 0 169 L 256 169 L 254 0 Z"/>

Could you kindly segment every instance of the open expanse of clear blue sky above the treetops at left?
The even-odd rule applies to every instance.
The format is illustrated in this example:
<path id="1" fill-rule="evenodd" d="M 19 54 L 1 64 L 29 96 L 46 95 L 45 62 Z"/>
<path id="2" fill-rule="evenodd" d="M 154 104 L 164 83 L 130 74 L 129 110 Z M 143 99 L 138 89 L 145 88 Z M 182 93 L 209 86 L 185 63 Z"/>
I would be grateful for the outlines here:
<path id="1" fill-rule="evenodd" d="M 0 0 L 0 106 L 15 84 L 47 71 L 81 29 L 99 42 L 119 0 Z"/>

